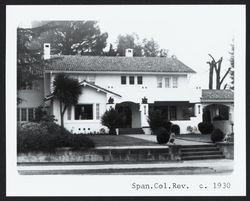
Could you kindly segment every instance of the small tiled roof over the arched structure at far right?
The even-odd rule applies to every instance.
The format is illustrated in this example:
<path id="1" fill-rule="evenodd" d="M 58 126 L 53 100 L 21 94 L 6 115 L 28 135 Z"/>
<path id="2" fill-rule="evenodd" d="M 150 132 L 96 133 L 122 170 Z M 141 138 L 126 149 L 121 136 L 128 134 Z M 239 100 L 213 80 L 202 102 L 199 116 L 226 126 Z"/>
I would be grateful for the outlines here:
<path id="1" fill-rule="evenodd" d="M 202 102 L 206 101 L 234 101 L 234 92 L 232 90 L 215 90 L 215 89 L 203 89 L 202 90 Z"/>

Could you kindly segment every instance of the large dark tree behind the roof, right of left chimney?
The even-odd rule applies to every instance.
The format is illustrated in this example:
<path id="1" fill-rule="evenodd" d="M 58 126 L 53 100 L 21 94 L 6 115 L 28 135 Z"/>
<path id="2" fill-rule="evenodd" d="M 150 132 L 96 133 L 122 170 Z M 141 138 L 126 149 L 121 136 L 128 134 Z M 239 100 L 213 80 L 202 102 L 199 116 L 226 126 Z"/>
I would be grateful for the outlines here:
<path id="1" fill-rule="evenodd" d="M 53 53 L 63 55 L 102 55 L 108 33 L 101 33 L 96 21 L 52 21 L 40 43 L 51 43 Z M 48 25 L 47 24 L 47 25 Z"/>

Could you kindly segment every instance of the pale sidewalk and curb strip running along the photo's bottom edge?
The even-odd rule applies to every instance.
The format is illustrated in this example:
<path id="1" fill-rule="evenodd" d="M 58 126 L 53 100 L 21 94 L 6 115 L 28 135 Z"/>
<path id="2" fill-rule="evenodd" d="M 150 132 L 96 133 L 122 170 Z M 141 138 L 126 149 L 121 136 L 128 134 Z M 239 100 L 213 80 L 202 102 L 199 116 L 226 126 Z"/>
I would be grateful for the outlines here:
<path id="1" fill-rule="evenodd" d="M 182 162 L 147 162 L 132 164 L 30 164 L 18 165 L 18 172 L 33 174 L 228 174 L 233 160 L 196 160 Z"/>

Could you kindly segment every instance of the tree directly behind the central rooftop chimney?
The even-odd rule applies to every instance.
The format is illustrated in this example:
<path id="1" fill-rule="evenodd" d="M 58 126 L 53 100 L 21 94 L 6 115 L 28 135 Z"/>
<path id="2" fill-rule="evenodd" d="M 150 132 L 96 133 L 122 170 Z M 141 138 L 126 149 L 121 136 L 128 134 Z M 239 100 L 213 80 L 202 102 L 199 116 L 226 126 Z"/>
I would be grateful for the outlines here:
<path id="1" fill-rule="evenodd" d="M 134 50 L 134 56 L 142 56 L 142 46 L 139 43 L 137 34 L 119 35 L 116 43 L 119 56 L 125 56 L 125 50 L 128 48 Z"/>

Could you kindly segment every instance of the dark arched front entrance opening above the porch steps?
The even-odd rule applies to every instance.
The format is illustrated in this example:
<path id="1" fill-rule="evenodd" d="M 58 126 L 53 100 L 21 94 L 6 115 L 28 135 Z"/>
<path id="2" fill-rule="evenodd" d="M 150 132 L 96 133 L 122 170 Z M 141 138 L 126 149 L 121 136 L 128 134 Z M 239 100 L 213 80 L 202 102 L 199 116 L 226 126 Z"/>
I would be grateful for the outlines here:
<path id="1" fill-rule="evenodd" d="M 121 128 L 140 128 L 141 112 L 140 104 L 134 102 L 122 102 L 116 104 L 115 109 L 122 114 Z"/>

